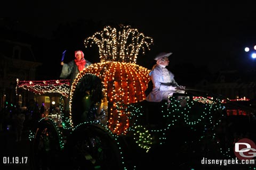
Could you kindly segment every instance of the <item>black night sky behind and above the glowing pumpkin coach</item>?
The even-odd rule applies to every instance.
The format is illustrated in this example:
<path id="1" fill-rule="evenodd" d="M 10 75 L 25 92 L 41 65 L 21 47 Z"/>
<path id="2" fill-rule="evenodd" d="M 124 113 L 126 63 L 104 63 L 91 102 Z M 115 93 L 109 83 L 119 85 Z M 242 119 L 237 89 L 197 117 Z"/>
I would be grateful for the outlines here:
<path id="1" fill-rule="evenodd" d="M 27 33 L 21 38 L 33 45 L 39 67 L 37 79 L 59 79 L 60 59 L 74 59 L 81 49 L 85 58 L 99 62 L 98 47 L 84 47 L 84 39 L 107 24 L 129 24 L 154 45 L 137 64 L 151 69 L 154 56 L 172 52 L 169 69 L 175 75 L 196 71 L 215 73 L 255 67 L 245 46 L 256 39 L 253 1 L 194 3 L 166 1 L 8 1 L 1 5 L 1 22 L 7 29 Z M 28 37 L 33 36 L 32 39 Z M 14 36 L 15 37 L 15 36 Z"/>

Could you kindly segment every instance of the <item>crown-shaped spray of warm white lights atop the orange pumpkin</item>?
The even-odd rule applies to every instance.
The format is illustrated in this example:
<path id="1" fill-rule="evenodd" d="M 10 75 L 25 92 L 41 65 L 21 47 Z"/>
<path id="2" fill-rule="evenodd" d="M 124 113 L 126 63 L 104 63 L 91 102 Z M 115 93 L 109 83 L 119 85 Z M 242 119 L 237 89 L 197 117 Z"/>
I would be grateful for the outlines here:
<path id="1" fill-rule="evenodd" d="M 118 31 L 107 25 L 102 31 L 86 38 L 85 47 L 96 44 L 99 47 L 101 62 L 136 63 L 141 51 L 145 54 L 146 49 L 150 50 L 149 46 L 153 44 L 153 39 L 139 32 L 138 29 L 131 28 L 130 25 L 120 25 L 120 28 L 121 30 Z"/>

